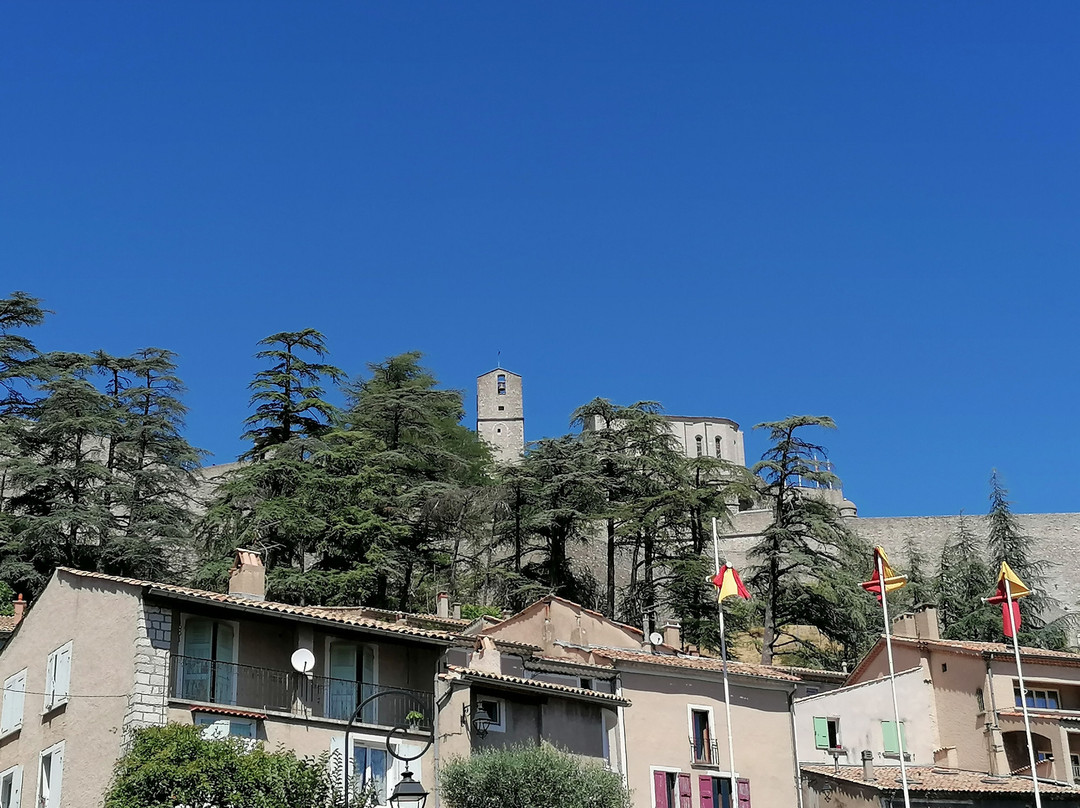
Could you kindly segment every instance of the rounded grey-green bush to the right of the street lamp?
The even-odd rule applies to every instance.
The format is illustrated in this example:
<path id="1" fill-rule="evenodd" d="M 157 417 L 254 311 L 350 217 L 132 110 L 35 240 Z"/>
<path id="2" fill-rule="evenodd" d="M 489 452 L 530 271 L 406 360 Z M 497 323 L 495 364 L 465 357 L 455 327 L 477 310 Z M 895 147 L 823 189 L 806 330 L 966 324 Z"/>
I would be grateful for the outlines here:
<path id="1" fill-rule="evenodd" d="M 448 808 L 630 808 L 613 771 L 549 744 L 448 760 L 440 772 Z"/>

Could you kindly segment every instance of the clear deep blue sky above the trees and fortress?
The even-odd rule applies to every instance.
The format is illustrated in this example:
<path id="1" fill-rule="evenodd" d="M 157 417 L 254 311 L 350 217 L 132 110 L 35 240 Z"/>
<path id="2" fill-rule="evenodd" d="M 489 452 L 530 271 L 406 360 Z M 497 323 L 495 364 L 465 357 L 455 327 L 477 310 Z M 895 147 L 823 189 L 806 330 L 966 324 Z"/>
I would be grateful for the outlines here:
<path id="1" fill-rule="evenodd" d="M 43 348 L 180 354 L 240 449 L 251 354 L 525 377 L 747 429 L 832 415 L 863 515 L 1077 511 L 1075 2 L 0 9 L 0 292 Z"/>

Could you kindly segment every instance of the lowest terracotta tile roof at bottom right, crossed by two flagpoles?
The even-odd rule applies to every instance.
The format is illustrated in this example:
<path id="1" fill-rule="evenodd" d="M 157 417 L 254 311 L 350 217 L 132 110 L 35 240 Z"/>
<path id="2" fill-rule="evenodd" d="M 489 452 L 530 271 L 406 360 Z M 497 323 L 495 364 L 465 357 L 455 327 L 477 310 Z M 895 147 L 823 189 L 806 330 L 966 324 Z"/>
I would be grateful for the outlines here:
<path id="1" fill-rule="evenodd" d="M 878 766 L 874 769 L 874 779 L 863 779 L 862 766 L 840 766 L 839 770 L 832 765 L 808 766 L 802 771 L 827 777 L 833 780 L 854 783 L 876 791 L 899 791 L 901 789 L 900 767 Z M 983 771 L 966 771 L 963 769 L 946 769 L 939 766 L 908 766 L 908 791 L 951 792 L 980 794 L 1023 794 L 1034 791 L 1029 777 L 999 777 Z M 1080 794 L 1080 789 L 1059 783 L 1039 781 L 1042 794 Z"/>

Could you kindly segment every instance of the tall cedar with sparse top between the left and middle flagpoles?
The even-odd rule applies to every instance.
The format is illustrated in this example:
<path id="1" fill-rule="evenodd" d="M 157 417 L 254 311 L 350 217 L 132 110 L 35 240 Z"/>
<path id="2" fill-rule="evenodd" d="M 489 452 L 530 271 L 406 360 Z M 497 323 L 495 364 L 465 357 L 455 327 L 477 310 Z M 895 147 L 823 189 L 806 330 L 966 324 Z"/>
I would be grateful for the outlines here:
<path id="1" fill-rule="evenodd" d="M 818 654 L 794 625 L 818 629 L 849 657 L 865 642 L 868 625 L 861 606 L 865 598 L 856 597 L 856 588 L 869 551 L 818 489 L 836 487 L 839 481 L 823 466 L 825 448 L 801 436 L 808 427 L 836 425 L 826 416 L 792 416 L 755 427 L 769 430 L 772 441 L 753 469 L 764 481 L 772 524 L 751 548 L 746 578 L 764 604 L 766 664 L 788 650 Z"/>

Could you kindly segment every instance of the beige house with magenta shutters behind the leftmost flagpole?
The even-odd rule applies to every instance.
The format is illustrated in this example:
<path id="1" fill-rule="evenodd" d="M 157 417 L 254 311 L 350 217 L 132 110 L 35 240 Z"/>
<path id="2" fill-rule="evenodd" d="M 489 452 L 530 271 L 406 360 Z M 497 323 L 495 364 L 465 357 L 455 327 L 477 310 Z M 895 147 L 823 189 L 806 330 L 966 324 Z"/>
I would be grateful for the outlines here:
<path id="1" fill-rule="evenodd" d="M 528 662 L 534 669 L 592 687 L 610 683 L 605 690 L 629 702 L 605 726 L 636 808 L 799 804 L 791 705 L 807 683 L 795 673 L 730 663 L 732 771 L 720 660 L 684 652 L 676 627 L 667 627 L 664 643 L 651 645 L 638 629 L 548 596 L 477 631 L 537 645 Z"/>

